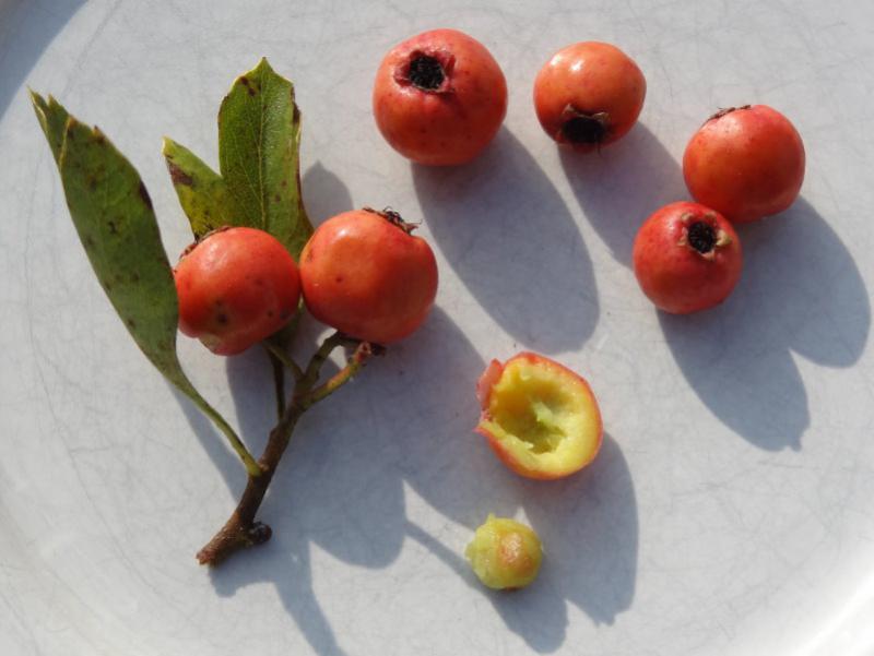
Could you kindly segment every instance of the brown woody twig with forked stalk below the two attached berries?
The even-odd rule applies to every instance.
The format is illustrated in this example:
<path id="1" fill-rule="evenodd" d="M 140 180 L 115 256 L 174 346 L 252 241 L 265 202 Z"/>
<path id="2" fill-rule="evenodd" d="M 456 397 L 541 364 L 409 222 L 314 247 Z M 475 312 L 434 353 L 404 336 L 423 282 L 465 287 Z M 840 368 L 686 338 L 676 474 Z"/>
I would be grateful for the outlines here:
<path id="1" fill-rule="evenodd" d="M 316 386 L 322 365 L 330 357 L 338 346 L 355 345 L 355 350 L 350 357 L 345 367 L 331 377 L 322 385 Z M 276 347 L 271 347 L 274 353 Z M 258 458 L 258 474 L 249 473 L 246 481 L 246 489 L 243 491 L 237 506 L 225 522 L 224 526 L 206 542 L 197 553 L 200 564 L 217 565 L 233 556 L 235 552 L 249 547 L 257 547 L 270 539 L 272 530 L 270 526 L 256 521 L 256 514 L 264 500 L 273 474 L 282 460 L 285 449 L 292 439 L 297 421 L 300 416 L 312 405 L 326 398 L 328 395 L 349 382 L 373 354 L 381 354 L 381 347 L 371 345 L 368 342 L 352 339 L 342 333 L 334 333 L 327 337 L 316 354 L 307 365 L 303 375 L 295 375 L 294 392 L 285 405 L 279 422 L 270 431 L 267 446 Z M 283 358 L 283 360 L 291 358 Z M 297 371 L 299 368 L 295 366 Z"/>

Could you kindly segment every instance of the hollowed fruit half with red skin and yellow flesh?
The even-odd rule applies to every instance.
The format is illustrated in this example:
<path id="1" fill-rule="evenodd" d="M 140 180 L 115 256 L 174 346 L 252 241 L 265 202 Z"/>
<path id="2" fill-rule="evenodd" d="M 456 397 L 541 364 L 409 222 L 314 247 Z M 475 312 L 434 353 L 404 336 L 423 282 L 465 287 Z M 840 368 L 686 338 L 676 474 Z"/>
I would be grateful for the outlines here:
<path id="1" fill-rule="evenodd" d="M 545 356 L 492 360 L 476 396 L 483 408 L 476 432 L 521 476 L 564 478 L 592 462 L 601 448 L 601 412 L 591 387 Z"/>

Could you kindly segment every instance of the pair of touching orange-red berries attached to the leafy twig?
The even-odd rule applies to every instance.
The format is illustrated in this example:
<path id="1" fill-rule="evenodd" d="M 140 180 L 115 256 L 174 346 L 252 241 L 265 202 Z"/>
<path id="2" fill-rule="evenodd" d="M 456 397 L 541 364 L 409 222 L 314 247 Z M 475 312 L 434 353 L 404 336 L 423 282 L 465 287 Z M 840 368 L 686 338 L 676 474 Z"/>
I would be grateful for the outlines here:
<path id="1" fill-rule="evenodd" d="M 215 354 L 235 355 L 282 329 L 303 295 L 310 314 L 350 336 L 402 339 L 437 295 L 434 253 L 411 232 L 394 212 L 343 212 L 312 234 L 298 265 L 263 230 L 220 228 L 174 270 L 179 329 Z"/>

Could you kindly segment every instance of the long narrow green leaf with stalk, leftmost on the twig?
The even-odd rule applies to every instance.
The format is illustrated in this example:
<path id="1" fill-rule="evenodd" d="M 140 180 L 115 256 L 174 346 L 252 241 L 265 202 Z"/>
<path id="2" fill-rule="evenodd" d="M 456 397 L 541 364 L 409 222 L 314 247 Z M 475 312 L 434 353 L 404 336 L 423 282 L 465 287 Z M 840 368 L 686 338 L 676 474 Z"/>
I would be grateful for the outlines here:
<path id="1" fill-rule="evenodd" d="M 249 473 L 259 475 L 246 446 L 179 363 L 176 285 L 137 169 L 99 129 L 79 122 L 52 98 L 31 97 L 56 157 L 73 225 L 116 312 L 155 368 L 216 424 Z"/>

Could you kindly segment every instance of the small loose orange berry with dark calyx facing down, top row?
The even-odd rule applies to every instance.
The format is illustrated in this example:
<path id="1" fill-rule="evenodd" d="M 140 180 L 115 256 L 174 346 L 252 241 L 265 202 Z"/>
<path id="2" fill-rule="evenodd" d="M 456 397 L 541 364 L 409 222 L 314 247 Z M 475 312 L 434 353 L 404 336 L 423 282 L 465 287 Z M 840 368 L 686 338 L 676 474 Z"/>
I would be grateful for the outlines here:
<path id="1" fill-rule="evenodd" d="M 647 81 L 634 60 L 600 41 L 560 49 L 534 81 L 534 108 L 543 130 L 580 152 L 624 136 L 646 95 Z"/>

